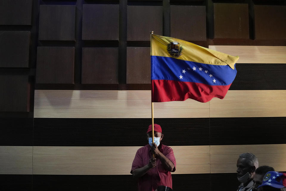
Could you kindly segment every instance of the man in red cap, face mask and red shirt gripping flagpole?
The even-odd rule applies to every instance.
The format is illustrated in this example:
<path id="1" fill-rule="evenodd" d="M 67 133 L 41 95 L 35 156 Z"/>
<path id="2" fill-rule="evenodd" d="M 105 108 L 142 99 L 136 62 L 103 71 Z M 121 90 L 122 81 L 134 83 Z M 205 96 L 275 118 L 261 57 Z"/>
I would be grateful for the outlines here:
<path id="1" fill-rule="evenodd" d="M 154 142 L 152 136 L 151 124 L 147 130 L 149 144 L 137 150 L 130 171 L 138 178 L 139 191 L 155 191 L 160 185 L 172 188 L 171 172 L 176 170 L 173 150 L 161 143 L 164 135 L 160 125 L 154 124 Z"/>

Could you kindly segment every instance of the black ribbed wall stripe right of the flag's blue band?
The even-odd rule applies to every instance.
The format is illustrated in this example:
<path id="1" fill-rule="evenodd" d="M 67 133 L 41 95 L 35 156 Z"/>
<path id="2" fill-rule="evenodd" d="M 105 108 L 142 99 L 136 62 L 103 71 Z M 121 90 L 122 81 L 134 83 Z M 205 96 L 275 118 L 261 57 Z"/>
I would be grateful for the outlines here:
<path id="1" fill-rule="evenodd" d="M 237 75 L 229 90 L 286 90 L 286 63 L 239 63 L 235 67 Z"/>

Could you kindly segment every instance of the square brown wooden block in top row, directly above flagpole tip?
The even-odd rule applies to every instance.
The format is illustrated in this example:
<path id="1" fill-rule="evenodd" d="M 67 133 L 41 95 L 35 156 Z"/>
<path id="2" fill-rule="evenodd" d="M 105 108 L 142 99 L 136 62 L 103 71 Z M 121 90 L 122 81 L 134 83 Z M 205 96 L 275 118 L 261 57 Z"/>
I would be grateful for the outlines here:
<path id="1" fill-rule="evenodd" d="M 163 34 L 161 6 L 127 7 L 127 41 L 150 41 L 150 31 Z"/>

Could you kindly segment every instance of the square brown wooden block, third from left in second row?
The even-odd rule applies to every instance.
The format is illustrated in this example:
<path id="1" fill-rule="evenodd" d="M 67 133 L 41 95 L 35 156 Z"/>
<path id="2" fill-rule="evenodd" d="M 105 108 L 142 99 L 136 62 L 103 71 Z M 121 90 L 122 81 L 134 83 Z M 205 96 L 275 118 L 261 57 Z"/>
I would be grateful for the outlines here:
<path id="1" fill-rule="evenodd" d="M 118 48 L 83 48 L 82 84 L 118 84 Z"/>

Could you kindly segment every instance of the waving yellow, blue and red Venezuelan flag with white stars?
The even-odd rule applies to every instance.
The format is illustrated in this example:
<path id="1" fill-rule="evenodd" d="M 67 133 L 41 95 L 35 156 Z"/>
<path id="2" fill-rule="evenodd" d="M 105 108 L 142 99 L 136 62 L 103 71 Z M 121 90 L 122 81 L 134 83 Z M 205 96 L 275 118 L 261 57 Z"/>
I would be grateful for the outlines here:
<path id="1" fill-rule="evenodd" d="M 236 76 L 238 58 L 152 34 L 152 102 L 223 99 Z"/>

